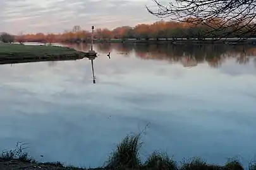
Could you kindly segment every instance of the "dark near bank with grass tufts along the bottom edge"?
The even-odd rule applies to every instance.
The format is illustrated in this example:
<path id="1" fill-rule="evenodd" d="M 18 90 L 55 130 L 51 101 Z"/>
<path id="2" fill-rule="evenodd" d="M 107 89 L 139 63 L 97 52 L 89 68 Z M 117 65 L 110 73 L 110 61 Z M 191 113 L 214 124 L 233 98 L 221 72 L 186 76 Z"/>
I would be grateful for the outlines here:
<path id="1" fill-rule="evenodd" d="M 256 163 L 251 162 L 246 167 L 239 159 L 233 158 L 224 165 L 207 164 L 204 159 L 194 157 L 183 162 L 176 162 L 168 154 L 153 152 L 147 157 L 145 162 L 140 159 L 140 135 L 127 135 L 114 150 L 109 159 L 102 167 L 91 169 L 169 169 L 169 170 L 256 170 Z M 17 145 L 17 149 L 4 150 L 0 156 L 0 169 L 85 169 L 74 166 L 64 166 L 61 162 L 37 162 L 27 152 L 22 144 Z M 96 154 L 96 153 L 95 153 Z"/>

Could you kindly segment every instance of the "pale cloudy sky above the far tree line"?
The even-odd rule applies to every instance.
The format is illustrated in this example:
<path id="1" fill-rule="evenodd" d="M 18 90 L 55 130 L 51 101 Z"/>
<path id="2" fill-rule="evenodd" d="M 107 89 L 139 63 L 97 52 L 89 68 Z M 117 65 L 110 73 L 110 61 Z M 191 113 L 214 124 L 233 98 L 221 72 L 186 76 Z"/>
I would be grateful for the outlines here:
<path id="1" fill-rule="evenodd" d="M 9 33 L 63 32 L 80 25 L 90 30 L 151 23 L 145 5 L 152 0 L 0 0 L 0 31 Z"/>

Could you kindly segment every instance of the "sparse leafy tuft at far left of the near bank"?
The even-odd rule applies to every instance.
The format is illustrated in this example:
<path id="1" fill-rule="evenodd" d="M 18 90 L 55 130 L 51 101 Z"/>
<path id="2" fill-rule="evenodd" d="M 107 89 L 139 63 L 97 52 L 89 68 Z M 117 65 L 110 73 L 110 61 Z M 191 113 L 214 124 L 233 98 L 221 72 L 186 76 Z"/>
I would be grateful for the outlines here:
<path id="1" fill-rule="evenodd" d="M 18 142 L 16 144 L 16 149 L 3 150 L 0 155 L 0 159 L 3 159 L 4 161 L 11 161 L 15 159 L 21 162 L 35 163 L 35 159 L 31 157 L 28 152 L 24 151 L 25 149 L 28 149 L 26 145 L 27 144 Z"/>

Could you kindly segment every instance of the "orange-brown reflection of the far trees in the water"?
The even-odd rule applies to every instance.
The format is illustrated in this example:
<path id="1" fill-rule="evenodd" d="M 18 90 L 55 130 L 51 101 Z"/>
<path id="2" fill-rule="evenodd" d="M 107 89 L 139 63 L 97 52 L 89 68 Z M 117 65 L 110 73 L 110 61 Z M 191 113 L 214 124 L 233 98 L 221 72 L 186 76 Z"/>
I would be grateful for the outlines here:
<path id="1" fill-rule="evenodd" d="M 167 60 L 171 64 L 181 63 L 184 67 L 196 67 L 200 63 L 207 62 L 210 67 L 221 67 L 226 59 L 235 58 L 241 65 L 248 64 L 256 55 L 253 46 L 230 45 L 143 45 L 122 43 L 96 43 L 98 53 L 107 54 L 115 51 L 129 57 L 134 54 L 143 60 Z M 68 45 L 76 50 L 87 51 L 87 44 Z M 255 66 L 256 67 L 256 66 Z"/>

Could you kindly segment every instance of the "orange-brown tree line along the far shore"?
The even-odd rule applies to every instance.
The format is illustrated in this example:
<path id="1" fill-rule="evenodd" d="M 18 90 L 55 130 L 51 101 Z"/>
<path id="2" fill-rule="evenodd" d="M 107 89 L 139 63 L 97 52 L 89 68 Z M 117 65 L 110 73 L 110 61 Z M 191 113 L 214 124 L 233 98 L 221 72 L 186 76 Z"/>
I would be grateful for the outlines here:
<path id="1" fill-rule="evenodd" d="M 137 40 L 159 40 L 160 38 L 197 38 L 204 40 L 205 38 L 219 38 L 225 35 L 226 37 L 238 37 L 238 38 L 254 38 L 256 33 L 247 32 L 247 26 L 255 26 L 254 23 L 244 26 L 240 24 L 240 30 L 234 28 L 232 23 L 235 21 L 223 21 L 221 19 L 214 18 L 211 21 L 211 25 L 204 25 L 199 22 L 195 25 L 191 23 L 191 20 L 197 20 L 195 18 L 186 18 L 184 21 L 157 21 L 152 24 L 139 24 L 137 26 L 121 26 L 109 30 L 107 28 L 97 28 L 94 31 L 94 38 L 99 40 L 109 39 L 121 39 L 126 40 L 128 38 L 136 38 Z M 222 24 L 222 23 L 225 23 Z M 218 28 L 218 29 L 217 29 Z M 212 30 L 212 31 L 210 31 Z M 233 30 L 233 31 L 231 31 Z M 236 31 L 237 30 L 237 31 Z M 244 31 L 241 31 L 244 30 Z M 232 33 L 231 33 L 232 32 Z M 8 35 L 7 33 L 5 33 Z M 92 33 L 88 30 L 83 30 L 80 26 L 76 25 L 71 30 L 66 30 L 63 33 L 29 33 L 13 36 L 16 42 L 90 42 Z M 3 40 L 2 40 L 3 41 Z M 4 42 L 4 41 L 3 41 Z M 6 41 L 5 41 L 6 42 Z M 8 41 L 7 41 L 8 42 Z"/>

